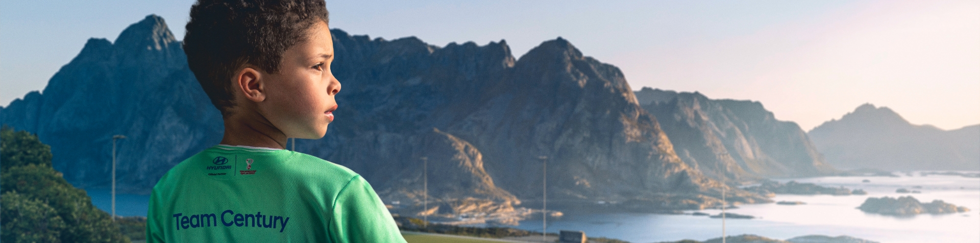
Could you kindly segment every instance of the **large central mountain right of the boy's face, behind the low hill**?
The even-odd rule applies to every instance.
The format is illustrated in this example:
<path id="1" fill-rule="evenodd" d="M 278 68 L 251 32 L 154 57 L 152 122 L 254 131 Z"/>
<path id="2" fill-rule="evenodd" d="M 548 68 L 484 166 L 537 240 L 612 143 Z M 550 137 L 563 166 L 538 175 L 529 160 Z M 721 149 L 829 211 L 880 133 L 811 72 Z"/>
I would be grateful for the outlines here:
<path id="1" fill-rule="evenodd" d="M 368 171 L 368 180 L 395 177 L 371 169 L 417 167 L 414 137 L 436 127 L 478 148 L 497 186 L 518 198 L 541 197 L 540 156 L 556 200 L 706 193 L 716 183 L 673 153 L 618 69 L 562 38 L 519 61 L 504 41 L 440 48 L 340 30 L 333 38 L 333 72 L 344 83 L 338 119 L 297 150 Z"/>

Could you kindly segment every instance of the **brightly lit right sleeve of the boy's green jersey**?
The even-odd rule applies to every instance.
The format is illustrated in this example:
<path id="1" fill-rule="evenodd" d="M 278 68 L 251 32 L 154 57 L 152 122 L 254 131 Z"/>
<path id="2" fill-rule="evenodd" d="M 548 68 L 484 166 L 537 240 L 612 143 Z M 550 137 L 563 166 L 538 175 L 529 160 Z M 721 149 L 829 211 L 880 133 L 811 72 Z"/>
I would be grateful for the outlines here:
<path id="1" fill-rule="evenodd" d="M 395 219 L 361 175 L 337 194 L 328 227 L 333 242 L 405 242 Z"/>

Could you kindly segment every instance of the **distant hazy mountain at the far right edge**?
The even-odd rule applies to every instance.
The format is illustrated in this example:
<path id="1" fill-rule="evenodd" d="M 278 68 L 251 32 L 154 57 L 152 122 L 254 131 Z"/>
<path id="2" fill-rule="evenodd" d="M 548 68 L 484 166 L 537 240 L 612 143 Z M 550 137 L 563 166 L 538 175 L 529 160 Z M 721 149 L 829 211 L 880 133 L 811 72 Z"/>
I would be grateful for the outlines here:
<path id="1" fill-rule="evenodd" d="M 864 104 L 808 134 L 827 162 L 841 169 L 980 170 L 980 124 L 943 130 Z"/>

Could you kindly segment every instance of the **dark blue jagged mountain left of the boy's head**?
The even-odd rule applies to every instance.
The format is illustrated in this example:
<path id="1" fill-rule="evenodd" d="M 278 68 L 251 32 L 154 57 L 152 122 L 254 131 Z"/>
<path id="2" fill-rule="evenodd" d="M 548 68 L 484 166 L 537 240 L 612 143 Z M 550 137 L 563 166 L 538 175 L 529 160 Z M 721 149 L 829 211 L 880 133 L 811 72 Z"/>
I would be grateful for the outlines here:
<path id="1" fill-rule="evenodd" d="M 221 140 L 221 115 L 187 69 L 158 16 L 129 25 L 111 43 L 89 39 L 42 93 L 0 110 L 0 122 L 51 145 L 55 170 L 78 187 L 107 186 L 112 136 L 123 192 L 147 192 L 184 158 Z"/>

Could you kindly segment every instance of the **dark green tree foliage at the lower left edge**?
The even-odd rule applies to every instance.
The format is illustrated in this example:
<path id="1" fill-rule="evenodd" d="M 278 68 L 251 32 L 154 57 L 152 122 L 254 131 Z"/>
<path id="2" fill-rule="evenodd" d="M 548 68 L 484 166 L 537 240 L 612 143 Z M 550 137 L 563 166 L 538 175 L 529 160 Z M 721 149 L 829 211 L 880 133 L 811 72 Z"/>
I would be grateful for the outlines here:
<path id="1" fill-rule="evenodd" d="M 84 190 L 51 168 L 51 148 L 36 135 L 4 126 L 0 138 L 0 240 L 129 242 L 109 214 L 92 205 Z"/>

